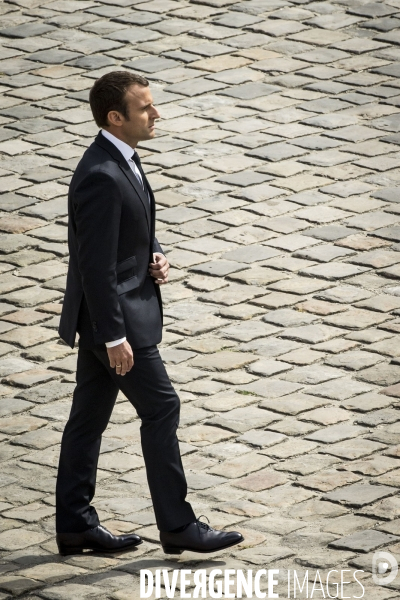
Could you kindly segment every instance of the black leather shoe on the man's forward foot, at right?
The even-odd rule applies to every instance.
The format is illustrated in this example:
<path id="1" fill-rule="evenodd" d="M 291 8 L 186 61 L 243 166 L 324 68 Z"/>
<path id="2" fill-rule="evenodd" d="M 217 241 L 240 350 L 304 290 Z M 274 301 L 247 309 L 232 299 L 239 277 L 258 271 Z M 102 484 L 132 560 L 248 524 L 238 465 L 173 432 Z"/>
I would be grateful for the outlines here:
<path id="1" fill-rule="evenodd" d="M 199 519 L 178 533 L 160 531 L 160 541 L 166 554 L 182 554 L 184 550 L 216 552 L 243 540 L 242 534 L 237 531 L 217 531 Z"/>

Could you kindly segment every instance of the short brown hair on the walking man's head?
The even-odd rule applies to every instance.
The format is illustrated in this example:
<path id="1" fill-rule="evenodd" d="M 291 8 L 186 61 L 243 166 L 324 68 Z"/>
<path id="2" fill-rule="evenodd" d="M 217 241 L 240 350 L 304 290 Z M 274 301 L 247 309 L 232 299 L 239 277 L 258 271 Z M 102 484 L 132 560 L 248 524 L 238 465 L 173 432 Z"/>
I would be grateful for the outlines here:
<path id="1" fill-rule="evenodd" d="M 125 95 L 134 84 L 147 87 L 149 82 L 145 77 L 129 71 L 111 71 L 96 79 L 89 93 L 89 102 L 98 127 L 108 125 L 110 110 L 120 112 L 125 119 L 129 118 Z"/>

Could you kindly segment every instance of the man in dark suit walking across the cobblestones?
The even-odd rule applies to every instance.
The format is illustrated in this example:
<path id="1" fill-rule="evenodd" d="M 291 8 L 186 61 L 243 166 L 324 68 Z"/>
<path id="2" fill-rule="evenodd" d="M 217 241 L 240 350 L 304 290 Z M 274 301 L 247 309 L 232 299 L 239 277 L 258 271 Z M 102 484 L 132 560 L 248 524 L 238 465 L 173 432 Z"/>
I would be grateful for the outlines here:
<path id="1" fill-rule="evenodd" d="M 67 287 L 60 337 L 74 347 L 76 387 L 64 430 L 56 489 L 61 554 L 116 552 L 142 540 L 100 525 L 94 497 L 101 436 L 121 390 L 136 409 L 160 540 L 167 553 L 210 552 L 242 541 L 202 523 L 185 500 L 187 485 L 176 430 L 179 398 L 157 344 L 160 285 L 169 264 L 155 238 L 154 195 L 135 151 L 154 137 L 159 113 L 140 75 L 108 73 L 90 91 L 101 131 L 86 150 L 68 197 Z"/>

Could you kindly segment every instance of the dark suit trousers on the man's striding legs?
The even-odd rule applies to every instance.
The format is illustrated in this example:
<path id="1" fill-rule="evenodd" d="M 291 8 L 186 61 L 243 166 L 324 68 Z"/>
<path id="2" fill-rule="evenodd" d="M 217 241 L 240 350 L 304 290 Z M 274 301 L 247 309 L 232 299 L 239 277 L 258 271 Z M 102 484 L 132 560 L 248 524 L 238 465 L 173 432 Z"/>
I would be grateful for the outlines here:
<path id="1" fill-rule="evenodd" d="M 56 487 L 56 530 L 82 532 L 99 525 L 95 494 L 101 437 L 121 390 L 141 419 L 140 436 L 158 529 L 195 521 L 176 430 L 180 400 L 157 346 L 133 350 L 134 366 L 117 375 L 105 344 L 79 348 L 76 387 L 62 443 Z"/>

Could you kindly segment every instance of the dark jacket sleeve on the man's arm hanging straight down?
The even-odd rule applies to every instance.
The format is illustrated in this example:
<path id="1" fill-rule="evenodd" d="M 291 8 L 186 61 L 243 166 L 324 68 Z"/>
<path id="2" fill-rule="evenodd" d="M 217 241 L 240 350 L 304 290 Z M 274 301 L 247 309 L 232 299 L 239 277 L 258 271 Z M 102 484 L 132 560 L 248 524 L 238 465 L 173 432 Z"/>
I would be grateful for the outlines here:
<path id="1" fill-rule="evenodd" d="M 117 250 L 122 198 L 108 174 L 85 177 L 73 195 L 78 266 L 96 344 L 126 336 L 117 293 Z"/>

